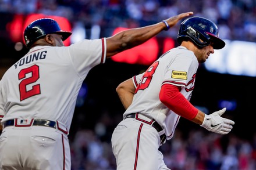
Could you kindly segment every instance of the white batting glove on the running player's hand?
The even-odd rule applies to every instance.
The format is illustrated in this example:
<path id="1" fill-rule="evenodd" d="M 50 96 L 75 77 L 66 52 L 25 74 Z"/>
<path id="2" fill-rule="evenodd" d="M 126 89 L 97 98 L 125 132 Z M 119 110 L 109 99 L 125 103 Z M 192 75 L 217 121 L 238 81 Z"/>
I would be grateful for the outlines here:
<path id="1" fill-rule="evenodd" d="M 226 135 L 233 128 L 232 125 L 234 125 L 234 121 L 221 117 L 225 111 L 226 107 L 222 108 L 222 110 L 215 111 L 212 114 L 205 114 L 204 122 L 202 122 L 201 126 L 208 131 Z"/>

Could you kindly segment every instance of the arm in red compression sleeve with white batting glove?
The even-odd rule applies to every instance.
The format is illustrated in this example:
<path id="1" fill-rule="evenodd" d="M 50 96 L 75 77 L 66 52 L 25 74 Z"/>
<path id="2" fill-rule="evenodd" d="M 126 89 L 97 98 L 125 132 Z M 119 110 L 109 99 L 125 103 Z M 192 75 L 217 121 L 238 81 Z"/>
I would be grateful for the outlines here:
<path id="1" fill-rule="evenodd" d="M 234 121 L 221 117 L 221 115 L 225 113 L 226 108 L 207 115 L 195 108 L 189 100 L 180 93 L 179 87 L 177 86 L 170 84 L 163 85 L 159 93 L 159 99 L 176 114 L 199 124 L 208 131 L 225 135 L 233 128 L 232 125 L 234 125 Z"/>

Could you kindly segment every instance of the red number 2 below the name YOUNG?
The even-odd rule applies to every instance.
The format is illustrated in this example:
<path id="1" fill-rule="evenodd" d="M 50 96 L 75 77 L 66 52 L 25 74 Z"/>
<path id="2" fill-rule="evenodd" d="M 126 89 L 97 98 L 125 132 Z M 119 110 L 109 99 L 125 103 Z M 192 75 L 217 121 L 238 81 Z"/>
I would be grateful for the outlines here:
<path id="1" fill-rule="evenodd" d="M 31 73 L 30 77 L 26 77 L 27 74 Z M 37 81 L 39 78 L 39 66 L 33 65 L 28 68 L 24 68 L 20 70 L 19 73 L 19 79 L 22 79 L 22 81 L 19 84 L 20 89 L 20 101 L 27 99 L 34 95 L 39 95 L 41 93 L 40 91 L 40 84 L 33 85 L 32 89 L 27 91 L 27 85 L 30 85 Z"/>

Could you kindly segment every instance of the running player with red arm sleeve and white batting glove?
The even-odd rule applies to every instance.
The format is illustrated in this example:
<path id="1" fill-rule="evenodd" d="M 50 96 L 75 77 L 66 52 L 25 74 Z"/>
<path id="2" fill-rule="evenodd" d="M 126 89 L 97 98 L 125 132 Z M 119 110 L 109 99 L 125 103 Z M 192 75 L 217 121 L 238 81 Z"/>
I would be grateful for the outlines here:
<path id="1" fill-rule="evenodd" d="M 180 117 L 222 135 L 233 128 L 232 120 L 221 117 L 226 108 L 207 115 L 189 102 L 198 64 L 225 46 L 218 27 L 208 19 L 189 17 L 180 25 L 177 41 L 180 46 L 116 89 L 126 108 L 112 134 L 118 170 L 169 169 L 158 149 L 173 137 Z"/>

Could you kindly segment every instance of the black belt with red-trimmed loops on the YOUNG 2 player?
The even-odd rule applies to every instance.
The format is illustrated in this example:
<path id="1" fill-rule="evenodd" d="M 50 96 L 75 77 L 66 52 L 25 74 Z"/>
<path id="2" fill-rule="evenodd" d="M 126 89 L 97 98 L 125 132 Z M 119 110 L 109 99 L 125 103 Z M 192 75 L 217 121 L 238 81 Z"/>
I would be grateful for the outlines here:
<path id="1" fill-rule="evenodd" d="M 67 129 L 62 129 L 59 126 L 58 121 L 50 121 L 50 120 L 42 120 L 42 119 L 32 119 L 30 124 L 22 125 L 17 124 L 17 119 L 15 120 L 8 120 L 3 124 L 3 128 L 6 128 L 7 126 L 16 126 L 16 127 L 28 127 L 28 126 L 46 126 L 49 128 L 55 128 L 59 129 L 59 131 L 62 131 L 63 133 L 67 134 Z"/>

